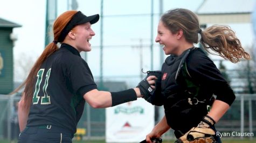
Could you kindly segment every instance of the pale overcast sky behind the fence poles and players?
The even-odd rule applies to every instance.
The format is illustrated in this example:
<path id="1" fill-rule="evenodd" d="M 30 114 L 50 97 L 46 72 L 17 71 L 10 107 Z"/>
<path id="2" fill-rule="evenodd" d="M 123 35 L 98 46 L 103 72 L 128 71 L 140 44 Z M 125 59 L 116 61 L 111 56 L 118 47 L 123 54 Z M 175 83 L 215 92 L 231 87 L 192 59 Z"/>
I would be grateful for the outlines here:
<path id="1" fill-rule="evenodd" d="M 71 9 L 66 0 L 58 1 L 58 13 Z M 71 2 L 71 0 L 70 0 Z M 77 0 L 78 10 L 87 16 L 100 13 L 100 0 L 88 1 Z M 182 7 L 195 11 L 203 0 L 163 0 L 163 12 L 175 7 Z M 46 17 L 46 0 L 0 0 L 1 9 L 0 17 L 22 25 L 20 28 L 14 28 L 13 34 L 18 38 L 13 47 L 15 59 L 15 80 L 24 79 L 22 76 L 25 67 L 31 67 L 33 62 L 41 54 L 45 47 L 45 17 Z M 103 6 L 103 44 L 106 49 L 103 50 L 104 58 L 104 75 L 139 75 L 141 67 L 150 69 L 150 51 L 146 48 L 150 44 L 150 0 L 105 0 Z M 159 1 L 154 1 L 154 24 L 153 40 L 155 40 L 157 24 L 159 20 Z M 134 16 L 126 16 L 135 14 Z M 139 15 L 138 15 L 139 14 Z M 140 15 L 141 14 L 141 15 Z M 114 15 L 114 16 L 113 16 Z M 121 16 L 120 16 L 121 15 Z M 252 46 L 253 35 L 251 24 L 229 24 L 236 29 L 237 36 L 242 44 L 246 47 Z M 100 43 L 100 22 L 92 26 L 96 35 L 93 37 L 92 51 L 87 53 L 87 62 L 94 76 L 99 76 L 99 43 Z M 142 56 L 137 48 L 142 39 Z M 122 45 L 122 46 L 121 46 Z M 132 48 L 128 45 L 134 45 Z M 115 46 L 117 48 L 115 48 Z M 122 48 L 120 48 L 120 46 Z M 108 48 L 109 47 L 109 48 Z M 159 57 L 161 49 L 154 43 L 154 70 L 161 67 Z M 84 56 L 84 53 L 81 53 Z M 141 58 L 140 58 L 141 57 Z M 139 61 L 143 61 L 140 65 Z M 160 59 L 160 62 L 159 60 Z M 29 62 L 23 62 L 29 61 Z M 121 65 L 120 65 L 121 63 Z M 20 67 L 19 65 L 23 65 Z M 29 71 L 27 68 L 27 71 Z M 26 72 L 27 72 L 26 71 Z"/>

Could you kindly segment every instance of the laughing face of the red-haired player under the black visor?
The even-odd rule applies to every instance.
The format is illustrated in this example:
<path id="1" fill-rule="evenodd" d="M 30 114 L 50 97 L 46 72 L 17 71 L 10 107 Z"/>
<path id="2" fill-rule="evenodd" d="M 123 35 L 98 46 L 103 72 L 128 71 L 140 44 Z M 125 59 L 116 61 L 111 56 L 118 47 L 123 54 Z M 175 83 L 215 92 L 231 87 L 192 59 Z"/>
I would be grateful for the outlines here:
<path id="1" fill-rule="evenodd" d="M 95 35 L 91 28 L 91 23 L 77 25 L 72 29 L 74 34 L 74 47 L 79 51 L 91 51 L 91 43 L 89 40 Z"/>

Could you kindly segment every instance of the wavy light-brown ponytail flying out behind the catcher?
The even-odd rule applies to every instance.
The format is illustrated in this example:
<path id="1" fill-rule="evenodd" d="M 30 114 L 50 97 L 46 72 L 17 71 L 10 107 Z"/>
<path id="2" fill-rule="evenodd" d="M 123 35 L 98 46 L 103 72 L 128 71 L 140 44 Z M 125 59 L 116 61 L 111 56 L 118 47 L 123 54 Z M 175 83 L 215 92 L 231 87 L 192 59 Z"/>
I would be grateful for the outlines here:
<path id="1" fill-rule="evenodd" d="M 250 59 L 250 55 L 243 49 L 239 39 L 229 26 L 213 25 L 201 32 L 200 43 L 212 55 L 219 55 L 232 63 L 237 63 L 241 58 Z M 216 51 L 213 54 L 209 49 Z"/>

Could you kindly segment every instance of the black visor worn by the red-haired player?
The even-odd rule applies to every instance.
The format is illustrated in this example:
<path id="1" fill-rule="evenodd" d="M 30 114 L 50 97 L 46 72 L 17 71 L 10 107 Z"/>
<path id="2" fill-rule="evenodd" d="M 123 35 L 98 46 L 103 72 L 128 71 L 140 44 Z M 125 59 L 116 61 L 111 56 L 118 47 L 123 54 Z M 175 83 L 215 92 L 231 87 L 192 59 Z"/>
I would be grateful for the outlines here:
<path id="1" fill-rule="evenodd" d="M 99 19 L 100 19 L 99 14 L 95 14 L 87 17 L 81 11 L 78 11 L 77 13 L 74 14 L 71 20 L 68 21 L 65 28 L 61 31 L 60 36 L 58 38 L 58 42 L 62 42 L 65 39 L 68 32 L 70 32 L 71 29 L 73 29 L 75 26 L 80 24 L 85 24 L 87 22 L 90 22 L 91 24 L 95 24 L 96 22 L 99 21 Z"/>

